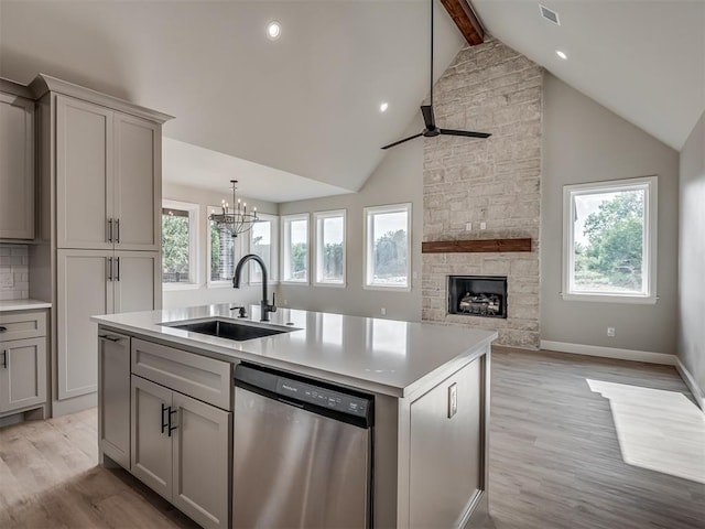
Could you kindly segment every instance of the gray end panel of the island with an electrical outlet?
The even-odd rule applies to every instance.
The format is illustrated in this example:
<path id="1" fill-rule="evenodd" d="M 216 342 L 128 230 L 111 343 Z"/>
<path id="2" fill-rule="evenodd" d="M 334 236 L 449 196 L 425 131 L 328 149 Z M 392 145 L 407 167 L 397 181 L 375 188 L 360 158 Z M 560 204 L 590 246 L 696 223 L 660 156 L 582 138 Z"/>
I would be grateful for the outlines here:
<path id="1" fill-rule="evenodd" d="M 411 403 L 410 528 L 462 527 L 484 487 L 481 376 L 478 358 Z"/>

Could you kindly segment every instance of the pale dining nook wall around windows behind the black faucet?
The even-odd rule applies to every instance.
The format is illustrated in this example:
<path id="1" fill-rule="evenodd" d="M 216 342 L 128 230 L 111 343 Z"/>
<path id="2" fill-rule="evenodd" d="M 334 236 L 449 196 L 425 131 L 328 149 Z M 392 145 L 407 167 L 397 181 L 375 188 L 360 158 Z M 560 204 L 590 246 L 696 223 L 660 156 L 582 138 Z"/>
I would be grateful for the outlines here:
<path id="1" fill-rule="evenodd" d="M 227 187 L 227 182 L 224 184 Z M 188 305 L 204 305 L 209 303 L 237 303 L 237 304 L 259 304 L 261 299 L 261 288 L 243 285 L 241 289 L 234 289 L 231 285 L 208 288 L 207 279 L 207 241 L 208 241 L 208 220 L 207 207 L 218 206 L 223 198 L 228 199 L 229 192 L 224 190 L 223 194 L 196 187 L 185 187 L 164 182 L 162 185 L 162 199 L 187 202 L 198 204 L 199 222 L 198 222 L 198 281 L 196 289 L 187 290 L 167 290 L 165 287 L 162 294 L 162 304 L 164 309 Z M 228 202 L 231 202 L 228 201 Z M 252 201 L 247 198 L 248 205 L 257 207 L 258 212 L 276 215 L 276 204 L 271 202 Z"/>

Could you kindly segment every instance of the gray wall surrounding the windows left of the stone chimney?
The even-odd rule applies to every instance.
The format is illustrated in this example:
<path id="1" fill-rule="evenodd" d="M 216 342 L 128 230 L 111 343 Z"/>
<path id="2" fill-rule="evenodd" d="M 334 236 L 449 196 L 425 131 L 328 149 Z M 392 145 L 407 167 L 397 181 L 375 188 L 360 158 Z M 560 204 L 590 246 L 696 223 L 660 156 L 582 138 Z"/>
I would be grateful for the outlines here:
<path id="1" fill-rule="evenodd" d="M 422 128 L 419 119 L 406 136 Z M 423 140 L 416 139 L 390 150 L 358 193 L 280 204 L 280 215 L 347 209 L 347 288 L 280 284 L 276 290 L 278 304 L 359 316 L 420 321 L 422 179 Z M 362 288 L 362 208 L 404 202 L 412 203 L 411 292 L 366 290 Z M 387 309 L 386 316 L 381 316 L 382 307 Z"/>

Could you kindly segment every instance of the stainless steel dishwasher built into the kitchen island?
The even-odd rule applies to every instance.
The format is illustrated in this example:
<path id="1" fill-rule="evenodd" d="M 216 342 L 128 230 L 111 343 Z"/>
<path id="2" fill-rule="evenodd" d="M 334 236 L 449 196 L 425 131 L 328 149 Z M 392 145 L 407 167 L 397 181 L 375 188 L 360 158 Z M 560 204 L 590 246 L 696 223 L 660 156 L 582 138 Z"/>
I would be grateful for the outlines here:
<path id="1" fill-rule="evenodd" d="M 232 526 L 371 526 L 373 398 L 239 364 Z"/>

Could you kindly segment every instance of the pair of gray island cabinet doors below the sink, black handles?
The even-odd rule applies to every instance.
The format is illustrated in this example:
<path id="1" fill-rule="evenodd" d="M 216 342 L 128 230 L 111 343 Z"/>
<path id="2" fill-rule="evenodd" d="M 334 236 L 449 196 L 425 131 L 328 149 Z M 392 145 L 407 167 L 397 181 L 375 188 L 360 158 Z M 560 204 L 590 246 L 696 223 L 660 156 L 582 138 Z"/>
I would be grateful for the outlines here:
<path id="1" fill-rule="evenodd" d="M 232 414 L 132 375 L 134 476 L 206 528 L 229 523 Z"/>

